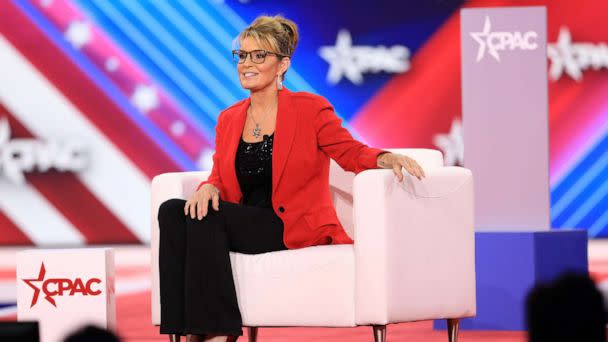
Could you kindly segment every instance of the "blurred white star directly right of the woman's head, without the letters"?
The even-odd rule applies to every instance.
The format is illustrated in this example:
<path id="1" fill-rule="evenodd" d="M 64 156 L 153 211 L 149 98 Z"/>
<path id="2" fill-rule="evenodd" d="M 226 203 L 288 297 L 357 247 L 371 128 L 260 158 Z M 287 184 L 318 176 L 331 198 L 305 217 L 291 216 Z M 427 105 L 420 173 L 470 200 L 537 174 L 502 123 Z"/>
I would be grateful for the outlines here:
<path id="1" fill-rule="evenodd" d="M 352 38 L 347 30 L 340 30 L 336 38 L 336 46 L 323 46 L 319 54 L 329 63 L 327 81 L 336 84 L 342 76 L 354 84 L 363 82 L 363 75 L 357 67 L 355 54 L 353 53 Z"/>

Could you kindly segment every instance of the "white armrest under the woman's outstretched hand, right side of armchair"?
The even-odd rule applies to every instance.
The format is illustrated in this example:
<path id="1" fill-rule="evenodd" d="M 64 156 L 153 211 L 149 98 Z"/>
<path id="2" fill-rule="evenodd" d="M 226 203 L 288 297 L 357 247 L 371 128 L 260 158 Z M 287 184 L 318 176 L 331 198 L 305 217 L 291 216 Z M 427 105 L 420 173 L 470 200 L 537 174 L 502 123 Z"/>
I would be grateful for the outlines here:
<path id="1" fill-rule="evenodd" d="M 356 323 L 475 315 L 473 176 L 462 167 L 392 170 L 353 183 Z"/>

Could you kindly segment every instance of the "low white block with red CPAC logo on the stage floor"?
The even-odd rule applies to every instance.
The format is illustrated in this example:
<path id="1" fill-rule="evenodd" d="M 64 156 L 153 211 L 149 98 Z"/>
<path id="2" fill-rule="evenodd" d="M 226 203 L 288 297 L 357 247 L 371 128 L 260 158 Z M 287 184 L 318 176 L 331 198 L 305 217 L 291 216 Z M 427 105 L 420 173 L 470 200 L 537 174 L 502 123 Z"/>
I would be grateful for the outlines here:
<path id="1" fill-rule="evenodd" d="M 17 320 L 38 321 L 42 342 L 94 324 L 116 329 L 114 251 L 30 249 L 17 253 Z"/>

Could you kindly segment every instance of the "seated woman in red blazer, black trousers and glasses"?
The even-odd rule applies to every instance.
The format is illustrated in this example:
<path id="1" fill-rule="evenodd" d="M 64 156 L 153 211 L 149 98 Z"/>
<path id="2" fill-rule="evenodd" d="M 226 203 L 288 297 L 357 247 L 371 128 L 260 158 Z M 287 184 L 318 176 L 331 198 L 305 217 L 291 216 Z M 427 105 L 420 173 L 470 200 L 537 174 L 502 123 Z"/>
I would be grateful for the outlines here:
<path id="1" fill-rule="evenodd" d="M 298 42 L 294 22 L 260 16 L 238 42 L 233 56 L 250 97 L 220 114 L 209 179 L 159 210 L 164 334 L 242 335 L 229 251 L 353 243 L 332 205 L 330 157 L 355 173 L 392 168 L 402 181 L 405 167 L 424 177 L 414 160 L 354 140 L 323 97 L 283 87 Z"/>

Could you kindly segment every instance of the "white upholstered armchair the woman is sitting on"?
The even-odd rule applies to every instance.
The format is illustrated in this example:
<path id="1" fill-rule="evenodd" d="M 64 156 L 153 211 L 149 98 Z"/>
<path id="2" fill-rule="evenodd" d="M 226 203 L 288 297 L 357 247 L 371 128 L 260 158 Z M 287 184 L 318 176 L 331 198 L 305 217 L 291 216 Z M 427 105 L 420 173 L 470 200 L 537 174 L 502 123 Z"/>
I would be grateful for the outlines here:
<path id="1" fill-rule="evenodd" d="M 230 252 L 237 298 L 249 341 L 258 327 L 373 327 L 475 315 L 473 176 L 443 166 L 440 151 L 388 149 L 415 159 L 426 178 L 392 170 L 343 171 L 333 160 L 330 186 L 338 217 L 354 245 L 313 246 L 257 255 Z M 152 323 L 160 324 L 160 204 L 186 198 L 208 171 L 166 173 L 152 181 Z"/>

